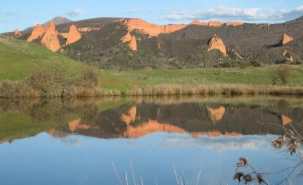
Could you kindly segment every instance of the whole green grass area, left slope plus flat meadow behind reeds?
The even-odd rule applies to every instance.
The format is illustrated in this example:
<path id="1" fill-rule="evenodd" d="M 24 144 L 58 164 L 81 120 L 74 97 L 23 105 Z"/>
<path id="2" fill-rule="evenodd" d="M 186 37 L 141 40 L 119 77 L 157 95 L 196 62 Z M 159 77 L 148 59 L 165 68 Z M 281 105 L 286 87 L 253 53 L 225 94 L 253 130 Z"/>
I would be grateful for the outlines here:
<path id="1" fill-rule="evenodd" d="M 303 86 L 303 65 L 290 65 L 291 80 L 288 86 Z M 61 70 L 66 76 L 76 77 L 82 70 L 93 68 L 72 60 L 60 53 L 52 52 L 35 43 L 28 43 L 0 35 L 0 81 L 19 81 L 28 78 L 34 71 Z M 103 89 L 131 90 L 142 86 L 164 84 L 211 85 L 253 84 L 271 85 L 278 65 L 247 68 L 201 68 L 172 70 L 110 71 L 94 69 Z M 277 80 L 277 85 L 282 81 Z"/>

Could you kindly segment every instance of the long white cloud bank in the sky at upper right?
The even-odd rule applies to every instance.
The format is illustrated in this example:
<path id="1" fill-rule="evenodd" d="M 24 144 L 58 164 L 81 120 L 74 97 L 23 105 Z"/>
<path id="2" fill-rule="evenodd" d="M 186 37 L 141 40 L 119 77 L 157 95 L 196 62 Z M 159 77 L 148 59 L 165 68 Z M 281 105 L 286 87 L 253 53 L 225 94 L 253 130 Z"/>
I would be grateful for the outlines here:
<path id="1" fill-rule="evenodd" d="M 170 20 L 288 20 L 303 15 L 303 5 L 292 9 L 237 8 L 219 5 L 209 9 L 170 8 L 164 9 L 164 18 Z"/>

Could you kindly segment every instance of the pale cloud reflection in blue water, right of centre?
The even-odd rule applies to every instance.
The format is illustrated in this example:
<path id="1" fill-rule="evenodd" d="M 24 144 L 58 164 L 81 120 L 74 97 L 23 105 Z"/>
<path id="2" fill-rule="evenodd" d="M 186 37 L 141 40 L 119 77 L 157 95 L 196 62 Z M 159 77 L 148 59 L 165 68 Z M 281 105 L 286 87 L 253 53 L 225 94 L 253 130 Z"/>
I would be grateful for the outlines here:
<path id="1" fill-rule="evenodd" d="M 235 149 L 260 149 L 269 146 L 273 135 L 243 135 L 243 136 L 220 136 L 208 137 L 201 136 L 193 138 L 186 134 L 170 134 L 160 136 L 163 140 L 162 145 L 170 148 L 180 147 L 205 147 L 216 151 L 235 150 Z"/>

